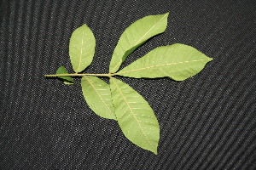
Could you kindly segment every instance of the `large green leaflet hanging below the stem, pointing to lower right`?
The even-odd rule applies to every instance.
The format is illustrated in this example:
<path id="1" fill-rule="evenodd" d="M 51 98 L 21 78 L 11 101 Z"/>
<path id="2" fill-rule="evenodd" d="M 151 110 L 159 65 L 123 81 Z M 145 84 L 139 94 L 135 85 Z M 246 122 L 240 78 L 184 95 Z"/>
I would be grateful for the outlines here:
<path id="1" fill-rule="evenodd" d="M 115 115 L 125 137 L 144 150 L 157 154 L 160 127 L 143 96 L 125 82 L 110 78 Z"/>

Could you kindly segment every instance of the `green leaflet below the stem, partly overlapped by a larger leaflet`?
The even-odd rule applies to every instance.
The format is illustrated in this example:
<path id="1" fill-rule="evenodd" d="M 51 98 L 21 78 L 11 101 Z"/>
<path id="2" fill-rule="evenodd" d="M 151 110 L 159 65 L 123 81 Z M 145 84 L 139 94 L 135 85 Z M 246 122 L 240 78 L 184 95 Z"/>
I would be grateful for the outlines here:
<path id="1" fill-rule="evenodd" d="M 116 120 L 114 116 L 113 103 L 110 87 L 107 82 L 98 77 L 83 77 L 81 80 L 84 99 L 98 116 Z"/>

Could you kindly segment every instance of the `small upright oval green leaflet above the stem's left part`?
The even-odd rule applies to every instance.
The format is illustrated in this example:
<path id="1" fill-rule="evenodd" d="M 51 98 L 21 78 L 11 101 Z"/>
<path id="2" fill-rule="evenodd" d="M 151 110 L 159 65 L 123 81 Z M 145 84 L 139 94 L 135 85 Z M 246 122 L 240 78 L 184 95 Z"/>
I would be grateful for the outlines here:
<path id="1" fill-rule="evenodd" d="M 96 47 L 96 40 L 87 25 L 73 31 L 69 42 L 69 55 L 73 71 L 81 72 L 90 65 Z"/>

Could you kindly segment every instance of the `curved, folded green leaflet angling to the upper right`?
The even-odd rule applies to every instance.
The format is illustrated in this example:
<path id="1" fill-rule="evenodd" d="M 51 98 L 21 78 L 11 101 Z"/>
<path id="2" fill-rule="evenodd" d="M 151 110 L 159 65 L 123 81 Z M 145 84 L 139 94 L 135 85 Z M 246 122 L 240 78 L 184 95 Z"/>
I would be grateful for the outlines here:
<path id="1" fill-rule="evenodd" d="M 126 57 L 137 47 L 146 42 L 150 37 L 164 32 L 167 26 L 168 14 L 148 15 L 127 27 L 119 38 L 116 48 L 114 48 L 109 72 L 118 71 L 119 66 Z"/>

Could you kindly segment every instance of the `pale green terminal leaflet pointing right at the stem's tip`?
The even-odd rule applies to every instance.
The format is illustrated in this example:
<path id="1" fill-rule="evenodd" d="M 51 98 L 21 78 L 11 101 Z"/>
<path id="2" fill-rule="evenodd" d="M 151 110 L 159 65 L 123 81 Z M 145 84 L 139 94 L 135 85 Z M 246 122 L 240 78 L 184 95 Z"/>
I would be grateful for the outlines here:
<path id="1" fill-rule="evenodd" d="M 176 43 L 154 48 L 117 74 L 135 78 L 171 77 L 183 81 L 195 76 L 211 60 L 195 48 Z"/>

